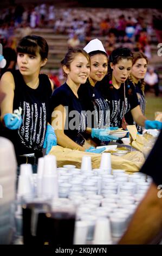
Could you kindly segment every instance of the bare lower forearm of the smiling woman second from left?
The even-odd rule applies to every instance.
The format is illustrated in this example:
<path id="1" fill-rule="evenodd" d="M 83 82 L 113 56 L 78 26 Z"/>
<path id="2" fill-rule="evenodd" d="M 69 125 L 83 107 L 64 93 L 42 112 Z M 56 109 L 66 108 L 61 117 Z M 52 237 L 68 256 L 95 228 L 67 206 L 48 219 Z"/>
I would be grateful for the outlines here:
<path id="1" fill-rule="evenodd" d="M 64 133 L 56 133 L 57 136 L 57 144 L 63 148 L 75 149 L 80 151 L 85 151 L 83 147 L 75 143 L 72 139 L 66 136 Z"/>

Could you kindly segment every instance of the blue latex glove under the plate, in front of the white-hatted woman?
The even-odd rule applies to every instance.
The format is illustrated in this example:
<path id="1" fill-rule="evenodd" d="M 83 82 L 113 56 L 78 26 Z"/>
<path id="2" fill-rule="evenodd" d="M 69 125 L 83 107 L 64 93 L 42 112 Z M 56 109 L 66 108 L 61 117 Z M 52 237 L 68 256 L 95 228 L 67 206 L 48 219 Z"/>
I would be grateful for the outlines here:
<path id="1" fill-rule="evenodd" d="M 92 132 L 91 132 L 91 136 L 92 138 L 98 138 L 100 139 L 100 141 L 113 141 L 116 140 L 116 139 L 119 139 L 118 137 L 116 136 L 113 136 L 113 135 L 109 135 L 107 133 L 107 130 L 108 129 L 92 129 Z"/>

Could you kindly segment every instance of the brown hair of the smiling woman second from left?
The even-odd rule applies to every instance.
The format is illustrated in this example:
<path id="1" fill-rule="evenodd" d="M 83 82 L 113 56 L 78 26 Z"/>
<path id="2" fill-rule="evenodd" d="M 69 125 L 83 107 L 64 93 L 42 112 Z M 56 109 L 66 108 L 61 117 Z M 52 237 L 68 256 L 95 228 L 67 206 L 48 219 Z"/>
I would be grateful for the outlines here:
<path id="1" fill-rule="evenodd" d="M 70 48 L 69 51 L 67 52 L 66 56 L 61 60 L 61 66 L 67 66 L 67 68 L 70 68 L 70 63 L 73 62 L 75 56 L 77 54 L 83 54 L 83 56 L 85 56 L 88 60 L 88 63 L 90 64 L 90 57 L 89 54 L 81 49 L 81 48 Z M 63 71 L 64 76 L 67 77 L 67 74 Z"/>

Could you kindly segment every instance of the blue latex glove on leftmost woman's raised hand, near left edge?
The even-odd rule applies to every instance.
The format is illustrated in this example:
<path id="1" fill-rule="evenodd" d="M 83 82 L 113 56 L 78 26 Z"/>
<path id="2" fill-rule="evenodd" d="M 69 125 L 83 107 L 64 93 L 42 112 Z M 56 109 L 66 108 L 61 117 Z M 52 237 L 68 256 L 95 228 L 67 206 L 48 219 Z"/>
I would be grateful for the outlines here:
<path id="1" fill-rule="evenodd" d="M 8 129 L 16 130 L 20 128 L 22 124 L 22 117 L 21 115 L 15 115 L 15 114 L 5 114 L 3 117 L 4 124 Z"/>

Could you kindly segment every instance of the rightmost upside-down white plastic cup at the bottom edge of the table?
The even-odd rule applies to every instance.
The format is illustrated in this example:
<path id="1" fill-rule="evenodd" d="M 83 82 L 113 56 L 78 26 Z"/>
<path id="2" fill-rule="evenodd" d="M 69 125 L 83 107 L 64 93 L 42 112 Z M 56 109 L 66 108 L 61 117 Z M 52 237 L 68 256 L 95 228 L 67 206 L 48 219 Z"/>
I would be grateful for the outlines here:
<path id="1" fill-rule="evenodd" d="M 96 220 L 94 230 L 94 245 L 111 245 L 111 227 L 108 218 L 99 218 Z"/>

